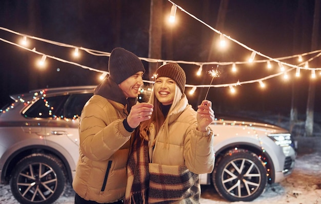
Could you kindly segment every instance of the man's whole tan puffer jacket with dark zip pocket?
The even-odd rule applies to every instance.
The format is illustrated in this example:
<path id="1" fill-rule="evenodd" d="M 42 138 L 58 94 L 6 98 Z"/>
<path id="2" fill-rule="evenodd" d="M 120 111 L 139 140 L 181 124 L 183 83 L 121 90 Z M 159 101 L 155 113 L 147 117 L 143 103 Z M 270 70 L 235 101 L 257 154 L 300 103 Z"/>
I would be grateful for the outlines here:
<path id="1" fill-rule="evenodd" d="M 86 200 L 115 202 L 125 195 L 131 138 L 123 125 L 126 106 L 99 95 L 84 106 L 73 189 Z"/>

